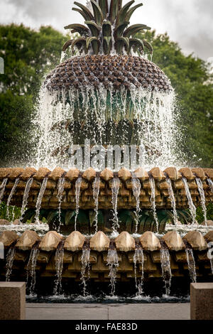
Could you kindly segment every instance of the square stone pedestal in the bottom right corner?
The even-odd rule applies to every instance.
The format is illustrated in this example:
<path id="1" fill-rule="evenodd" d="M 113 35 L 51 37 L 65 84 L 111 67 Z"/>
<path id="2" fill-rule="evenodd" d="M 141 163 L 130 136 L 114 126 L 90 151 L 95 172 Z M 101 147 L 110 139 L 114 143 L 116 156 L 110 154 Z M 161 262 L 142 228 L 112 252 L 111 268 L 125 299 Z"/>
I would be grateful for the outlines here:
<path id="1" fill-rule="evenodd" d="M 213 283 L 191 283 L 191 320 L 213 320 Z"/>

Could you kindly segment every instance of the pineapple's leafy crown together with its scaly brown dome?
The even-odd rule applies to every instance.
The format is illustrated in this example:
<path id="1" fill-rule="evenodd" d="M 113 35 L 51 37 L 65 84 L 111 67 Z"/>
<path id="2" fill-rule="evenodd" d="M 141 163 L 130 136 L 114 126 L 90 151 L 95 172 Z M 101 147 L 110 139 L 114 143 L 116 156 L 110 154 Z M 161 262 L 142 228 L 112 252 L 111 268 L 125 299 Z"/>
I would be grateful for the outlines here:
<path id="1" fill-rule="evenodd" d="M 67 41 L 62 50 L 70 47 L 80 56 L 66 60 L 48 75 L 45 81 L 48 90 L 103 87 L 113 91 L 142 88 L 170 92 L 168 77 L 158 66 L 143 58 L 148 53 L 152 55 L 153 48 L 147 41 L 137 38 L 137 33 L 150 28 L 144 24 L 129 26 L 131 15 L 142 4 L 131 7 L 134 0 L 124 6 L 121 0 L 91 0 L 90 3 L 91 11 L 77 2 L 80 9 L 73 9 L 82 14 L 86 26 L 70 24 L 65 27 L 78 36 Z"/>

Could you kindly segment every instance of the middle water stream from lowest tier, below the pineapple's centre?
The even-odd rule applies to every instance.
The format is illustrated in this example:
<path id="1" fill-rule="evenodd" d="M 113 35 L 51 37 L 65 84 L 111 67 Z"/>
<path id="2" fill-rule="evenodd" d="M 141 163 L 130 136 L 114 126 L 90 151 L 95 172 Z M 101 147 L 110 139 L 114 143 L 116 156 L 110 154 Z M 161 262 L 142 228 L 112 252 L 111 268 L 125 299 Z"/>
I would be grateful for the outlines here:
<path id="1" fill-rule="evenodd" d="M 119 257 L 116 249 L 109 249 L 107 254 L 107 266 L 109 266 L 109 277 L 111 284 L 111 296 L 114 296 L 116 285 L 116 274 L 119 266 Z"/>

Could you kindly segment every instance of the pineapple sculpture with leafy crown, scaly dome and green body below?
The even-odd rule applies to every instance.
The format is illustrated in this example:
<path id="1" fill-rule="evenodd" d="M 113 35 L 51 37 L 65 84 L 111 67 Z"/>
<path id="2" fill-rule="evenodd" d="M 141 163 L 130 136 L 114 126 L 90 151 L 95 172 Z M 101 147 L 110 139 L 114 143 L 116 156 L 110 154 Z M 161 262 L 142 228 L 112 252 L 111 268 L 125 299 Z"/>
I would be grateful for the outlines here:
<path id="1" fill-rule="evenodd" d="M 48 92 L 57 93 L 72 109 L 72 118 L 55 124 L 54 129 L 70 131 L 73 144 L 90 139 L 92 144 L 139 145 L 147 126 L 152 127 L 141 110 L 154 92 L 169 94 L 172 90 L 168 77 L 148 60 L 153 54 L 151 44 L 136 38 L 150 28 L 130 26 L 133 12 L 143 4 L 132 6 L 134 0 L 124 6 L 122 0 L 87 2 L 89 6 L 75 2 L 73 8 L 85 25 L 65 26 L 75 38 L 62 50 L 70 49 L 72 57 L 45 80 Z M 152 155 L 155 149 L 148 150 Z M 58 148 L 54 153 L 65 151 Z"/>

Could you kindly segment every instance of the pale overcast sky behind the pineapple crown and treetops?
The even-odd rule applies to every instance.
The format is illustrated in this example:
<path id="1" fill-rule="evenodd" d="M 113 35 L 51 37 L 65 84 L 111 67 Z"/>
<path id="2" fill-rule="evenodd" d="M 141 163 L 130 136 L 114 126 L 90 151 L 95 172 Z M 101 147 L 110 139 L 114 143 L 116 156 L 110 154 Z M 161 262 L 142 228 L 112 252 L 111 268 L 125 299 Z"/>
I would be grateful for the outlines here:
<path id="1" fill-rule="evenodd" d="M 85 4 L 86 0 L 81 1 Z M 126 2 L 126 1 L 124 1 Z M 136 0 L 143 2 L 131 23 L 144 23 L 157 33 L 168 32 L 185 53 L 213 57 L 213 0 Z M 51 25 L 64 32 L 70 23 L 83 23 L 71 11 L 74 0 L 1 0 L 1 23 L 24 23 L 31 28 Z"/>

